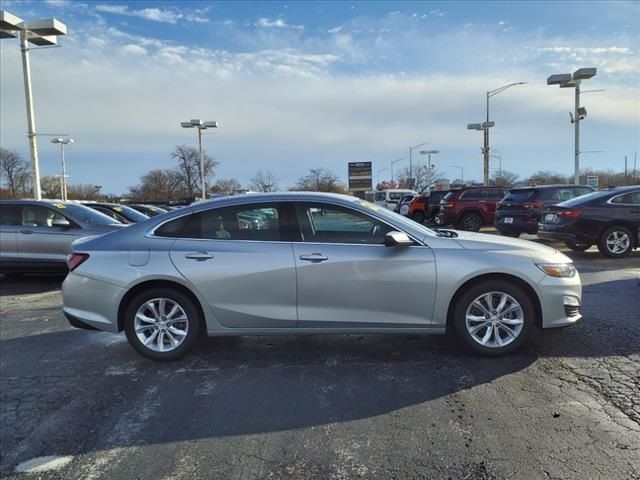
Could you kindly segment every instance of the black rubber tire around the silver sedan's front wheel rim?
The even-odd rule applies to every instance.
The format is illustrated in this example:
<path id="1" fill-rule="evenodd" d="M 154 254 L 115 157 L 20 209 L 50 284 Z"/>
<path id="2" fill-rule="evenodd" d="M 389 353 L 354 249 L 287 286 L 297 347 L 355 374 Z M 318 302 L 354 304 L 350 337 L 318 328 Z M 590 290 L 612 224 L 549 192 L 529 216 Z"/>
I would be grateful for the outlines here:
<path id="1" fill-rule="evenodd" d="M 478 297 L 489 292 L 506 293 L 507 295 L 512 297 L 518 304 L 520 304 L 520 307 L 522 309 L 523 322 L 521 324 L 521 330 L 513 341 L 503 347 L 489 347 L 481 345 L 478 341 L 472 338 L 471 334 L 467 330 L 467 309 Z M 499 299 L 497 295 L 494 298 L 496 301 Z M 536 309 L 534 308 L 533 301 L 534 300 L 530 297 L 530 294 L 526 290 L 522 289 L 518 285 L 514 285 L 512 281 L 490 280 L 472 285 L 464 292 L 462 292 L 462 294 L 456 299 L 456 305 L 453 310 L 453 317 L 451 318 L 456 336 L 465 348 L 480 355 L 496 357 L 514 352 L 521 348 L 522 345 L 527 341 L 527 338 L 531 334 L 531 330 L 535 324 Z M 485 327 L 484 329 L 479 329 L 478 332 L 479 334 L 486 334 L 487 330 L 488 327 Z M 499 332 L 498 335 L 500 336 L 502 336 L 500 332 L 507 333 L 504 327 L 498 327 L 497 331 Z M 493 338 L 495 339 L 495 334 L 492 335 L 494 335 Z"/>

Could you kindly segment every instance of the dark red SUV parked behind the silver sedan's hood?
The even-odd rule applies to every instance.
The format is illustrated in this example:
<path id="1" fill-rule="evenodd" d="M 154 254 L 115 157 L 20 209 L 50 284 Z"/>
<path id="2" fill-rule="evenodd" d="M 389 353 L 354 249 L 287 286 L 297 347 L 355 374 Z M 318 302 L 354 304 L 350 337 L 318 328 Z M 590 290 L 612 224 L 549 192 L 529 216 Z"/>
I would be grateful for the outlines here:
<path id="1" fill-rule="evenodd" d="M 452 224 L 460 230 L 477 232 L 483 225 L 493 225 L 496 204 L 509 187 L 468 187 L 452 190 L 440 201 L 437 222 Z"/>

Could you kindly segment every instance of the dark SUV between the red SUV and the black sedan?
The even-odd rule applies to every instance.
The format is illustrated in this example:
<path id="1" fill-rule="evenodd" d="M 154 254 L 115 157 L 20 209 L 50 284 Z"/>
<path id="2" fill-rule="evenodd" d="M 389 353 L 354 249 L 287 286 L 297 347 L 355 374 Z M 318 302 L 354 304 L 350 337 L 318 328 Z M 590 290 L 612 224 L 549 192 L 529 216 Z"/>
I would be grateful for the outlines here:
<path id="1" fill-rule="evenodd" d="M 495 226 L 502 235 L 519 237 L 538 231 L 546 207 L 594 192 L 585 185 L 542 185 L 512 188 L 496 208 Z"/>

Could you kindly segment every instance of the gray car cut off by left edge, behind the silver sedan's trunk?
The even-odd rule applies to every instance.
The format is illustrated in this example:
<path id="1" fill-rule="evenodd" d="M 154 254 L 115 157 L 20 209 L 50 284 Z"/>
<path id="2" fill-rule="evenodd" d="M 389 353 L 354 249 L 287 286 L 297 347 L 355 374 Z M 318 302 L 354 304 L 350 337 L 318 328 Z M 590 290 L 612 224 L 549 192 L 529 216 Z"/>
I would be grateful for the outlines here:
<path id="1" fill-rule="evenodd" d="M 0 201 L 0 273 L 66 272 L 75 240 L 123 226 L 74 202 Z"/>

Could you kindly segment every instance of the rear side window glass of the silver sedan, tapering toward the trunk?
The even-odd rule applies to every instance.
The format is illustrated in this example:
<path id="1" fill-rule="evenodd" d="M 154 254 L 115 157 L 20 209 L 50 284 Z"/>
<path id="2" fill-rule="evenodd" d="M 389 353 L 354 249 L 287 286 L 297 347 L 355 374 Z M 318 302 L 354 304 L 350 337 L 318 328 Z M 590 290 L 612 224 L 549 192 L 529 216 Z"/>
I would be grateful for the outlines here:
<path id="1" fill-rule="evenodd" d="M 208 240 L 281 240 L 281 216 L 276 205 L 237 205 L 185 215 L 155 231 L 159 237 Z"/>

